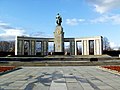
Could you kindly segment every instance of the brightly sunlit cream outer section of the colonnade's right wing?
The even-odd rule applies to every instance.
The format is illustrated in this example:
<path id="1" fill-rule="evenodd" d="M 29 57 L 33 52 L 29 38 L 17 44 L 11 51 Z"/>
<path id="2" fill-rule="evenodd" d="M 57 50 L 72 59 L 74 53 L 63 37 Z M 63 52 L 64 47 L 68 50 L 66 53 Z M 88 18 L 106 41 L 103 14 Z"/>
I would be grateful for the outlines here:
<path id="1" fill-rule="evenodd" d="M 82 42 L 82 55 L 90 55 L 90 41 L 94 42 L 94 55 L 102 55 L 102 36 L 76 38 L 75 39 L 75 55 L 77 55 L 77 41 Z"/>

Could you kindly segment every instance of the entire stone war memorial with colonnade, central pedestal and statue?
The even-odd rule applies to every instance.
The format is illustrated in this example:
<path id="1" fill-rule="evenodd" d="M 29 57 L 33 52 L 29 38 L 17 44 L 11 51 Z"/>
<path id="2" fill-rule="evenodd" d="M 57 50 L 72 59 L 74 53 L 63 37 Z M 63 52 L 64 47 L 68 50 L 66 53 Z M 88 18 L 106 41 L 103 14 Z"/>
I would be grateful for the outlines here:
<path id="1" fill-rule="evenodd" d="M 54 38 L 36 38 L 36 37 L 16 37 L 16 55 L 25 55 L 25 43 L 27 43 L 27 55 L 36 55 L 36 42 L 40 42 L 41 55 L 48 55 L 48 43 L 54 42 L 54 54 L 65 54 L 64 42 L 70 43 L 70 55 L 77 55 L 77 42 L 82 42 L 82 55 L 90 55 L 90 42 L 93 42 L 93 55 L 102 55 L 102 36 L 89 38 L 64 38 L 64 29 L 61 25 L 62 17 L 56 16 L 57 26 L 54 32 Z"/>

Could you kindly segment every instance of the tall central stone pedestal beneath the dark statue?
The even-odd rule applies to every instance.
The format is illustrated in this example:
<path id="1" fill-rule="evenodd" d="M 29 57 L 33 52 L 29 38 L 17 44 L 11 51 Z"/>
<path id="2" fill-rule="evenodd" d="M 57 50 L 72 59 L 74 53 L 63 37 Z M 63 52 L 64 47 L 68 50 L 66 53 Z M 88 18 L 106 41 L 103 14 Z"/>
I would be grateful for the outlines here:
<path id="1" fill-rule="evenodd" d="M 64 32 L 62 26 L 56 26 L 54 32 L 55 52 L 64 52 Z"/>

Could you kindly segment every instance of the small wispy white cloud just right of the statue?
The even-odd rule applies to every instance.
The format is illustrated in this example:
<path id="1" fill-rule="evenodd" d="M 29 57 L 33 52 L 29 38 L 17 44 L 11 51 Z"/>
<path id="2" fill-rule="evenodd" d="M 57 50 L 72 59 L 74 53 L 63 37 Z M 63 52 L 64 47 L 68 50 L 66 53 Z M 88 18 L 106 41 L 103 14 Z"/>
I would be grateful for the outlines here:
<path id="1" fill-rule="evenodd" d="M 85 19 L 66 19 L 66 24 L 70 25 L 70 26 L 75 26 L 78 25 L 80 22 L 84 22 Z"/>

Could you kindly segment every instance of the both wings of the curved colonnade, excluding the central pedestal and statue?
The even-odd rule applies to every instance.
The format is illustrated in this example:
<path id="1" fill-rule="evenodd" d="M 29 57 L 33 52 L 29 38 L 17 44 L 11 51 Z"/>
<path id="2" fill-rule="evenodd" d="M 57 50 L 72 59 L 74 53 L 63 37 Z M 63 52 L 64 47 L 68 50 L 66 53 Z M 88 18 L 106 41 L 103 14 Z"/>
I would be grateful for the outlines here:
<path id="1" fill-rule="evenodd" d="M 90 55 L 90 43 L 94 41 L 94 55 L 102 55 L 102 37 L 89 38 L 64 38 L 64 42 L 70 42 L 70 55 L 77 55 L 77 41 L 82 43 L 82 55 Z M 54 38 L 34 38 L 17 36 L 15 42 L 15 55 L 25 55 L 24 44 L 28 43 L 28 55 L 36 55 L 36 42 L 41 42 L 41 55 L 47 55 L 48 42 L 54 42 Z"/>

